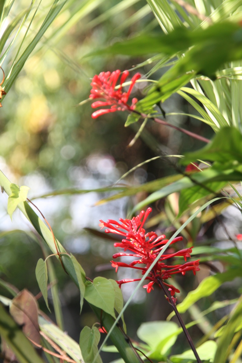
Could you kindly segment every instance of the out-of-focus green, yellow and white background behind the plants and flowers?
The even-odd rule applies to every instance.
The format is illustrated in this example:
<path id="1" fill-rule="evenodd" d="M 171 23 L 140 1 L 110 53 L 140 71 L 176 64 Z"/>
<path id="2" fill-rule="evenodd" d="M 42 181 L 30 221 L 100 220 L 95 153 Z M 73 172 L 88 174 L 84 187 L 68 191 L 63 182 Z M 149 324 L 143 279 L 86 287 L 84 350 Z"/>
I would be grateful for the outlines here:
<path id="1" fill-rule="evenodd" d="M 48 0 L 33 2 L 31 14 L 37 7 L 38 11 L 28 32 L 29 37 L 35 35 L 35 29 L 43 21 L 45 9 L 51 3 L 52 1 Z M 12 1 L 9 14 L 14 18 L 30 5 L 27 0 Z M 20 34 L 26 31 L 27 26 L 28 23 L 23 24 Z M 137 164 L 160 156 L 161 153 L 182 155 L 186 151 L 197 150 L 203 146 L 202 142 L 152 122 L 148 123 L 141 138 L 133 146 L 129 146 L 138 126 L 135 124 L 124 128 L 127 115 L 113 113 L 93 120 L 89 102 L 78 106 L 82 100 L 88 99 L 94 74 L 115 69 L 130 69 L 132 72 L 134 66 L 145 60 L 145 57 L 130 60 L 128 56 L 85 58 L 85 54 L 122 38 L 148 31 L 162 33 L 146 1 L 67 1 L 25 62 L 15 83 L 3 99 L 3 108 L 0 110 L 1 170 L 13 183 L 28 185 L 31 188 L 29 198 L 36 198 L 34 203 L 51 224 L 55 236 L 69 252 L 75 254 L 86 275 L 92 279 L 100 275 L 117 279 L 116 273 L 109 266 L 114 248 L 112 241 L 95 236 L 85 228 L 98 230 L 99 219 L 124 218 L 127 211 L 147 194 L 141 192 L 130 199 L 125 197 L 104 205 L 95 203 L 110 193 L 64 194 L 47 198 L 39 196 L 62 188 L 95 189 L 109 186 Z M 8 43 L 11 40 L 9 37 Z M 24 41 L 27 42 L 27 39 Z M 5 46 L 8 46 L 8 43 Z M 11 69 L 14 54 L 15 46 L 2 59 L 1 66 L 5 74 Z M 139 72 L 147 74 L 153 65 L 154 63 L 146 64 Z M 159 69 L 153 75 L 154 79 L 159 79 L 162 72 L 163 69 Z M 140 84 L 142 87 L 136 89 L 138 98 L 144 96 L 147 86 Z M 165 101 L 162 107 L 167 114 L 197 114 L 191 105 L 177 94 Z M 167 115 L 166 118 L 168 122 L 175 122 L 176 125 L 207 138 L 213 135 L 209 126 L 188 116 Z M 137 168 L 120 183 L 143 184 L 176 172 L 176 167 L 159 158 Z M 11 222 L 6 210 L 7 195 L 3 195 L 2 199 L 4 203 L 0 205 L 1 278 L 19 290 L 26 287 L 33 294 L 37 294 L 39 287 L 34 271 L 37 260 L 43 256 L 43 242 L 26 222 L 23 223 L 23 217 L 18 211 L 14 213 L 13 223 Z M 156 229 L 158 233 L 165 233 L 169 238 L 177 228 L 176 224 L 173 224 L 177 203 L 177 196 L 171 195 L 166 203 L 159 201 L 154 204 L 152 217 L 159 215 L 160 218 L 158 223 L 153 219 L 150 228 Z M 236 215 L 235 222 L 233 208 L 226 213 L 222 219 L 226 223 L 233 221 L 233 233 L 239 233 L 241 217 Z M 195 225 L 193 227 L 196 228 Z M 189 233 L 187 236 L 189 237 Z M 213 243 L 226 238 L 220 225 L 213 223 L 206 226 L 198 235 L 197 241 L 202 244 L 206 239 Z M 65 330 L 78 340 L 81 327 L 92 326 L 97 318 L 87 304 L 84 305 L 80 317 L 79 291 L 58 261 L 53 261 L 53 264 L 56 269 Z M 221 262 L 216 266 L 218 270 L 222 270 Z M 195 288 L 203 277 L 209 275 L 209 268 L 210 266 L 202 265 L 201 273 L 194 279 L 190 275 L 177 279 L 185 295 L 187 291 Z M 238 287 L 238 281 L 223 286 L 216 291 L 216 299 L 224 298 L 224 290 L 227 297 L 238 297 Z M 132 286 L 124 286 L 123 293 L 127 299 L 132 293 Z M 49 298 L 51 299 L 51 295 Z M 198 306 L 205 310 L 213 300 L 212 295 L 202 302 L 199 301 Z M 47 312 L 43 298 L 40 298 L 39 303 L 41 309 Z M 136 330 L 141 322 L 165 320 L 170 311 L 171 308 L 166 303 L 162 291 L 156 288 L 152 294 L 147 295 L 144 289 L 141 289 L 125 312 L 126 321 L 129 322 L 128 334 L 136 339 Z M 194 317 L 195 311 L 190 311 L 190 314 Z M 221 316 L 219 314 L 221 310 L 207 316 L 207 331 Z M 55 319 L 53 314 L 51 317 Z M 204 329 L 202 333 L 199 329 L 201 326 L 194 326 L 191 334 L 199 338 L 202 333 L 206 333 Z M 174 347 L 174 354 L 180 352 L 184 342 L 185 337 L 180 335 Z M 102 357 L 104 361 L 111 360 L 105 353 Z"/>

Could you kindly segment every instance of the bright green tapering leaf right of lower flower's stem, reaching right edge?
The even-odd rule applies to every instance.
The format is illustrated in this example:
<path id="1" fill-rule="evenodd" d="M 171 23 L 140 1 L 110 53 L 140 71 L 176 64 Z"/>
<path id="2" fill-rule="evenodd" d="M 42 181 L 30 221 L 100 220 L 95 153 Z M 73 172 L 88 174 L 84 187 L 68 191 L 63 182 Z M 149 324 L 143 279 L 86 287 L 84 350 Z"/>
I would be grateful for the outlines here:
<path id="1" fill-rule="evenodd" d="M 179 313 L 185 313 L 187 309 L 197 302 L 199 299 L 210 296 L 224 282 L 232 281 L 235 277 L 242 276 L 242 268 L 231 268 L 226 272 L 217 273 L 213 276 L 206 277 L 200 282 L 197 289 L 190 291 L 185 299 L 177 305 Z M 170 314 L 169 316 L 173 316 Z"/>

